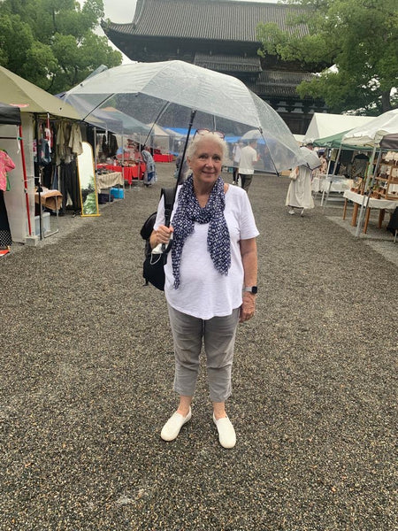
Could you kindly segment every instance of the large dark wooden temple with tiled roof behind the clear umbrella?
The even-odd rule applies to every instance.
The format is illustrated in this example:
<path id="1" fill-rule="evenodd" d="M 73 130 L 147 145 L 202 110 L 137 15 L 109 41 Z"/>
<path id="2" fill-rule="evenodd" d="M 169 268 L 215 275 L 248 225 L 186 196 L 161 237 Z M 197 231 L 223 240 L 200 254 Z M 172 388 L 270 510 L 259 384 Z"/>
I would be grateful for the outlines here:
<path id="1" fill-rule="evenodd" d="M 313 73 L 275 56 L 260 57 L 259 23 L 292 31 L 288 17 L 300 7 L 233 0 L 137 0 L 127 24 L 103 22 L 107 37 L 128 58 L 153 62 L 180 59 L 239 78 L 270 104 L 292 133 L 303 135 L 322 101 L 301 99 L 295 88 Z M 299 27 L 301 35 L 307 29 Z"/>

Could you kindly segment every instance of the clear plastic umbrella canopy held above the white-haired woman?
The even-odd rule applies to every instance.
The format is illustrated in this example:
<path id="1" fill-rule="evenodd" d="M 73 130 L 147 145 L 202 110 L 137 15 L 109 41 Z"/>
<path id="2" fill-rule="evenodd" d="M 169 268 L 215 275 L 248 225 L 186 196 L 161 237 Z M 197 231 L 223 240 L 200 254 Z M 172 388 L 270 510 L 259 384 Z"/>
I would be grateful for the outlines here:
<path id="1" fill-rule="evenodd" d="M 106 105 L 144 123 L 188 127 L 241 136 L 256 128 L 267 147 L 265 171 L 302 164 L 295 138 L 270 105 L 232 76 L 183 61 L 120 65 L 82 81 L 65 101 L 83 118 Z M 90 106 L 91 111 L 85 113 Z"/>

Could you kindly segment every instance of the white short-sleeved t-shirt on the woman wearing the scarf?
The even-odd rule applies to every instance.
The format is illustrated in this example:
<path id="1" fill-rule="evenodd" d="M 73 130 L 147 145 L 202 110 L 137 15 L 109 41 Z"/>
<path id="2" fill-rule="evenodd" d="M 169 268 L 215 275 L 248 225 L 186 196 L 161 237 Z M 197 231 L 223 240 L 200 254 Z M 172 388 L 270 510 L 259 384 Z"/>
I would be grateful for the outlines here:
<path id="1" fill-rule="evenodd" d="M 172 218 L 177 206 L 178 196 Z M 224 216 L 231 239 L 231 267 L 227 275 L 218 273 L 207 250 L 208 223 L 201 225 L 195 222 L 193 234 L 184 242 L 178 289 L 174 289 L 173 285 L 172 251 L 169 252 L 165 265 L 165 297 L 179 312 L 199 319 L 211 319 L 230 315 L 241 306 L 243 265 L 239 242 L 259 235 L 249 197 L 243 189 L 232 186 L 227 189 Z M 165 202 L 162 198 L 157 208 L 155 230 L 164 223 Z"/>

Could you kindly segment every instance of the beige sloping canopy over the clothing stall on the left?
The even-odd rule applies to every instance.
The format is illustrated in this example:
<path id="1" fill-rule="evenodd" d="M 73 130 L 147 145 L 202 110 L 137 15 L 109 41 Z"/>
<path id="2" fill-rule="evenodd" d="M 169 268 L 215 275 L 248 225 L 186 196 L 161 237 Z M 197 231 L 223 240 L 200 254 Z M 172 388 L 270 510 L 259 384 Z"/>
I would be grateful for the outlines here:
<path id="1" fill-rule="evenodd" d="M 80 119 L 69 104 L 65 104 L 30 81 L 0 66 L 0 101 L 17 106 L 21 112 L 50 112 L 54 116 Z"/>

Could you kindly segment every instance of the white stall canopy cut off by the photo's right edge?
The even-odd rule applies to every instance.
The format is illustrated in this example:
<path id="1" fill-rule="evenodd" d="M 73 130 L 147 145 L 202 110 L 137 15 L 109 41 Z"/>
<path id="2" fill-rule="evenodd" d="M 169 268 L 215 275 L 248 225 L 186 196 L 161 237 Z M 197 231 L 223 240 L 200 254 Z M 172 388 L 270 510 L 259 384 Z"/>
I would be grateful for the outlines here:
<path id="1" fill-rule="evenodd" d="M 398 133 L 398 109 L 387 111 L 372 119 L 363 127 L 351 129 L 343 136 L 345 144 L 356 144 L 357 146 L 379 147 L 383 136 Z"/>

